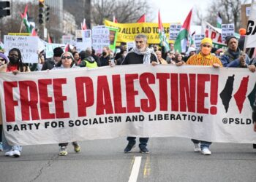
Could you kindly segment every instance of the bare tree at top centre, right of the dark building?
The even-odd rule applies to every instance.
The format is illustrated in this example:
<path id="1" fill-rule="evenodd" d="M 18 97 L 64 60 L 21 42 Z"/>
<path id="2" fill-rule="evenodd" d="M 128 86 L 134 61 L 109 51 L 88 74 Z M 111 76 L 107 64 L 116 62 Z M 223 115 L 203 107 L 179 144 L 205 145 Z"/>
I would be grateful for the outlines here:
<path id="1" fill-rule="evenodd" d="M 94 0 L 92 1 L 92 20 L 102 25 L 105 19 L 118 19 L 118 23 L 135 23 L 144 13 L 148 16 L 152 8 L 147 0 Z"/>

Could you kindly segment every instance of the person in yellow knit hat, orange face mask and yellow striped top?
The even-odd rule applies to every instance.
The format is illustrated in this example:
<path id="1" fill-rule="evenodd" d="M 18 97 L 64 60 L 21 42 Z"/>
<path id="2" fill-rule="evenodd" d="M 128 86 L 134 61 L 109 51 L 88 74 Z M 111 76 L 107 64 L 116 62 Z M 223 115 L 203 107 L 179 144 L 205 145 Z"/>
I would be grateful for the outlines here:
<path id="1" fill-rule="evenodd" d="M 176 63 L 176 66 L 181 66 L 183 64 L 187 65 L 197 65 L 197 66 L 213 66 L 214 68 L 222 67 L 222 62 L 216 56 L 211 54 L 212 40 L 210 38 L 204 38 L 200 44 L 200 52 L 197 55 L 192 55 L 187 63 L 183 61 Z M 194 151 L 201 151 L 204 155 L 211 155 L 209 149 L 211 142 L 209 141 L 199 141 L 192 139 L 194 143 Z"/>

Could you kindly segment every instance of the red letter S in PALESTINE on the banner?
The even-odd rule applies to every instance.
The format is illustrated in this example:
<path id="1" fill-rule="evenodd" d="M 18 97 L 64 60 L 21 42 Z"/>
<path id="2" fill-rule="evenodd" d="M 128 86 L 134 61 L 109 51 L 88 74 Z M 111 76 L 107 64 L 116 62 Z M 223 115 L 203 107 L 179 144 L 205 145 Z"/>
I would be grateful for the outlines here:
<path id="1" fill-rule="evenodd" d="M 144 112 L 152 112 L 156 110 L 157 101 L 154 96 L 153 90 L 149 87 L 149 84 L 155 84 L 154 74 L 144 73 L 140 75 L 140 87 L 145 92 L 147 99 L 140 100 L 141 110 Z"/>

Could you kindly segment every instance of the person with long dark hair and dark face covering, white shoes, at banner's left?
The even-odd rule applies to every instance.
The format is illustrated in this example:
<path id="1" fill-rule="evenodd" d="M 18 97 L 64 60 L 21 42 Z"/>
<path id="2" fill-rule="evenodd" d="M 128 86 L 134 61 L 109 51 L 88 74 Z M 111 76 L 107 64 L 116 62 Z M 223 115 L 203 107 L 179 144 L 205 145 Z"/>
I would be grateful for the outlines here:
<path id="1" fill-rule="evenodd" d="M 8 58 L 10 60 L 9 63 L 7 63 L 7 67 L 4 71 L 10 72 L 12 71 L 13 74 L 18 74 L 18 72 L 29 72 L 29 66 L 26 66 L 25 63 L 22 61 L 21 52 L 17 48 L 12 48 L 12 50 L 9 51 Z M 4 151 L 7 151 L 5 153 L 5 156 L 7 157 L 20 157 L 20 153 L 22 151 L 22 146 L 10 146 L 9 143 L 7 143 L 7 140 L 4 137 L 4 133 L 2 135 L 3 140 L 3 149 Z"/>

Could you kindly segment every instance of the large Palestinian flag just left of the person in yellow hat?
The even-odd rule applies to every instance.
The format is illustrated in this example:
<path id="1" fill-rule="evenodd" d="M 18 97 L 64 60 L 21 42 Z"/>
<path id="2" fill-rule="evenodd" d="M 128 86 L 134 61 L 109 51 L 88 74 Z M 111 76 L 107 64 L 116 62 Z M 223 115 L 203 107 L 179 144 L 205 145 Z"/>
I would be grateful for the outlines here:
<path id="1" fill-rule="evenodd" d="M 190 10 L 189 15 L 187 15 L 186 20 L 181 27 L 181 31 L 178 33 L 178 36 L 174 43 L 174 50 L 176 50 L 177 52 L 186 52 L 191 17 L 192 9 Z"/>

